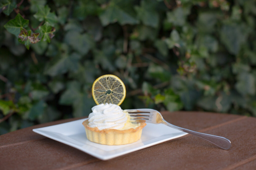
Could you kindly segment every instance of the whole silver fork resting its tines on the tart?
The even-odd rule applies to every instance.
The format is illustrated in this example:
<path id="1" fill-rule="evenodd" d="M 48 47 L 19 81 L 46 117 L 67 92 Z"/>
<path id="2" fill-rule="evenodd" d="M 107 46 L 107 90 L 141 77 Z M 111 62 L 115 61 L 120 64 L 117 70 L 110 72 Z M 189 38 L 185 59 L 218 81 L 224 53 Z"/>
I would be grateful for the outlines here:
<path id="1" fill-rule="evenodd" d="M 169 127 L 172 127 L 174 129 L 183 131 L 185 133 L 189 133 L 191 135 L 195 135 L 197 137 L 200 137 L 210 143 L 213 143 L 214 145 L 222 148 L 222 149 L 230 149 L 231 147 L 231 142 L 230 140 L 224 138 L 224 137 L 219 137 L 215 135 L 209 135 L 205 133 L 199 133 L 195 131 L 191 131 L 188 129 L 184 129 L 182 127 L 178 127 L 175 125 L 172 125 L 168 123 L 167 121 L 164 120 L 162 115 L 154 109 L 129 109 L 129 110 L 124 110 L 129 113 L 131 117 L 131 122 L 146 122 L 146 123 L 154 123 L 154 124 L 159 124 L 163 123 L 164 125 L 167 125 Z"/>

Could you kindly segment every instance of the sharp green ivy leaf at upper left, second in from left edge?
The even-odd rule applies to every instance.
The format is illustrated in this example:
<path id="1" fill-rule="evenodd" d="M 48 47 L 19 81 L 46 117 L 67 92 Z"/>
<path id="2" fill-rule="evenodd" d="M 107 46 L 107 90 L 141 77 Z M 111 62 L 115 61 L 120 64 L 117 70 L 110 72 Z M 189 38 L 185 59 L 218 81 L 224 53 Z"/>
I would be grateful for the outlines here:
<path id="1" fill-rule="evenodd" d="M 50 12 L 50 8 L 48 5 L 42 7 L 42 6 L 38 6 L 38 12 L 36 14 L 34 14 L 34 17 L 38 20 L 38 21 L 46 21 L 48 22 L 50 25 L 54 26 L 54 24 L 56 22 L 58 22 L 58 18 L 55 15 L 54 12 Z"/>

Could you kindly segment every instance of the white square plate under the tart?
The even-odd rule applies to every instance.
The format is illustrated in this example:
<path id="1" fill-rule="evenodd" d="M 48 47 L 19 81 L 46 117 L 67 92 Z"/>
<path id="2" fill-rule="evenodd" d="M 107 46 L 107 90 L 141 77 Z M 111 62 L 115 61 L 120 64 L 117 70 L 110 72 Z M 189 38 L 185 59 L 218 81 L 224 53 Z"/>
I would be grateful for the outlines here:
<path id="1" fill-rule="evenodd" d="M 33 131 L 50 139 L 54 139 L 55 141 L 82 150 L 101 160 L 115 158 L 187 134 L 163 124 L 156 125 L 147 123 L 142 130 L 141 139 L 137 142 L 126 145 L 101 145 L 93 143 L 86 138 L 85 129 L 82 125 L 82 122 L 86 119 L 33 129 Z"/>

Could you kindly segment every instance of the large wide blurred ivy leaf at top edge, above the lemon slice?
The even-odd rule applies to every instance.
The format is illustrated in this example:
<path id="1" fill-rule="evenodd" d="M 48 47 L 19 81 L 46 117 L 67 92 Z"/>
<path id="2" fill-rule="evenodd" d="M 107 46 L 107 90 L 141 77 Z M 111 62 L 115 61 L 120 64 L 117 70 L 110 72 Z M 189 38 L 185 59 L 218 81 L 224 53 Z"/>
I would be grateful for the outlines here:
<path id="1" fill-rule="evenodd" d="M 115 22 L 121 25 L 138 23 L 129 0 L 111 0 L 109 6 L 99 17 L 104 26 Z"/>

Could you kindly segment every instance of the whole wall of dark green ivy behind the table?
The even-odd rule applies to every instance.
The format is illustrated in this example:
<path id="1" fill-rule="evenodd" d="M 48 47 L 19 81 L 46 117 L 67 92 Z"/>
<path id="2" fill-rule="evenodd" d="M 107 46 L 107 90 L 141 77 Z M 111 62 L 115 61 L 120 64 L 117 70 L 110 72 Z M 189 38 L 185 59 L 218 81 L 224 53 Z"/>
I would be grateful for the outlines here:
<path id="1" fill-rule="evenodd" d="M 254 0 L 0 0 L 0 12 L 0 134 L 88 115 L 104 74 L 126 85 L 122 109 L 256 116 Z"/>

